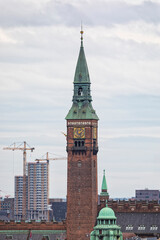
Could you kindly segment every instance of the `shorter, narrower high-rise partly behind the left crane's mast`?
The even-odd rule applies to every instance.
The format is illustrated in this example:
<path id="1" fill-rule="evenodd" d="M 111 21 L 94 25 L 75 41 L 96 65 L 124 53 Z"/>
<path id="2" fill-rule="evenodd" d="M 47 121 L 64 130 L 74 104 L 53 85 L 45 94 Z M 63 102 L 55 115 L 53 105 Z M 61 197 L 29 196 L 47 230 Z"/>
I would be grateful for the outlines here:
<path id="1" fill-rule="evenodd" d="M 23 176 L 15 176 L 14 218 L 16 221 L 23 218 Z M 28 177 L 26 176 L 26 206 L 28 203 Z M 26 209 L 27 210 L 27 209 Z"/>

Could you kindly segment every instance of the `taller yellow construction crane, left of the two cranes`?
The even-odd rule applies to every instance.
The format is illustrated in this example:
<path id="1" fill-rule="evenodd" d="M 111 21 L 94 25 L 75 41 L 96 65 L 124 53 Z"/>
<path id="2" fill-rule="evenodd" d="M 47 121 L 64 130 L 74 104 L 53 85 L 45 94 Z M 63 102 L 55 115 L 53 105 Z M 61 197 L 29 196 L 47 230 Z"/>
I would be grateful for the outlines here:
<path id="1" fill-rule="evenodd" d="M 35 148 L 31 148 L 25 141 L 17 145 L 13 143 L 9 147 L 4 147 L 3 150 L 22 150 L 23 151 L 23 198 L 22 198 L 22 219 L 26 218 L 26 176 L 27 176 L 27 150 L 33 152 Z"/>

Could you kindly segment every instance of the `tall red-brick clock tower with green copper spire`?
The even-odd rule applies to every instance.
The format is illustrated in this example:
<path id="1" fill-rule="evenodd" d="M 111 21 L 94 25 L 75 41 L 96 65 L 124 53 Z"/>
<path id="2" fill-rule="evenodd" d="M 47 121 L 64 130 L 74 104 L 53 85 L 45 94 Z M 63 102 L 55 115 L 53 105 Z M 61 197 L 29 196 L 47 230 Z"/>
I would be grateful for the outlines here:
<path id="1" fill-rule="evenodd" d="M 81 47 L 74 76 L 73 104 L 67 120 L 67 240 L 89 239 L 97 217 L 97 128 L 90 78 Z"/>

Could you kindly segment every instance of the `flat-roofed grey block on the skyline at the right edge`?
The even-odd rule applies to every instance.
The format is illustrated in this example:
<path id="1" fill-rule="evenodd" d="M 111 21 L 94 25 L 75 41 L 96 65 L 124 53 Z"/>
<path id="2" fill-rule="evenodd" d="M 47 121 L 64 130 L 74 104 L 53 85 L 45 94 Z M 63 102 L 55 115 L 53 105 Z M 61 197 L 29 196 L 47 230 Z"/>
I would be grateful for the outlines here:
<path id="1" fill-rule="evenodd" d="M 136 200 L 152 201 L 157 200 L 160 203 L 160 191 L 151 189 L 136 190 Z"/>

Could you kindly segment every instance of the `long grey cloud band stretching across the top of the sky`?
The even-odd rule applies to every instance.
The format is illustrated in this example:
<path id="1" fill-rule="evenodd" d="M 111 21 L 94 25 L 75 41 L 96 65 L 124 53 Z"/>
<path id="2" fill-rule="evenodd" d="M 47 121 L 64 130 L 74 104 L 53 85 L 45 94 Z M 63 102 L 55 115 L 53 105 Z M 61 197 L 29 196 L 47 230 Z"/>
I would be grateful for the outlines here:
<path id="1" fill-rule="evenodd" d="M 26 1 L 0 1 L 1 27 L 16 26 L 50 26 L 64 24 L 79 26 L 83 20 L 87 25 L 112 25 L 143 20 L 160 22 L 160 4 L 145 1 L 138 5 L 130 5 L 122 1 L 83 2 L 78 6 L 59 1 L 49 1 L 43 8 Z"/>

